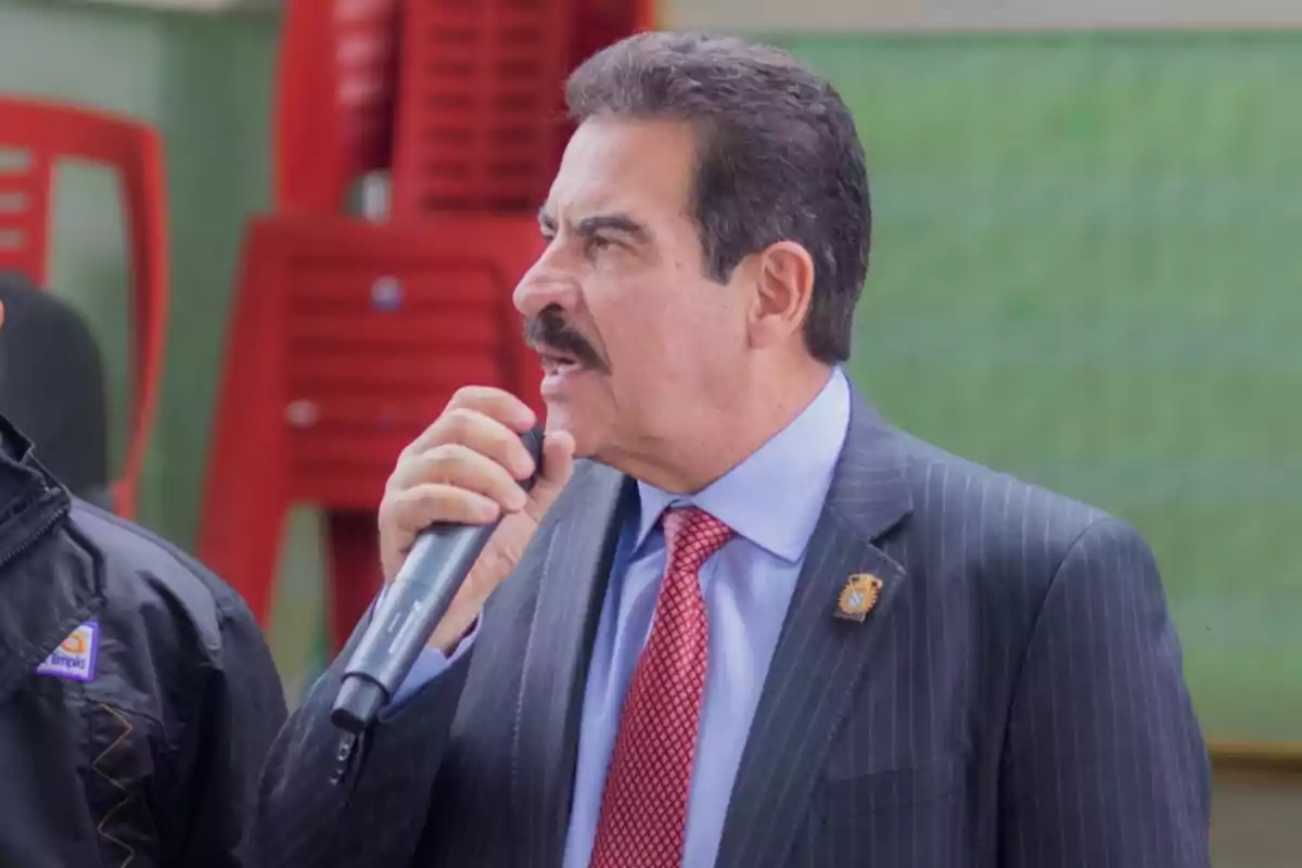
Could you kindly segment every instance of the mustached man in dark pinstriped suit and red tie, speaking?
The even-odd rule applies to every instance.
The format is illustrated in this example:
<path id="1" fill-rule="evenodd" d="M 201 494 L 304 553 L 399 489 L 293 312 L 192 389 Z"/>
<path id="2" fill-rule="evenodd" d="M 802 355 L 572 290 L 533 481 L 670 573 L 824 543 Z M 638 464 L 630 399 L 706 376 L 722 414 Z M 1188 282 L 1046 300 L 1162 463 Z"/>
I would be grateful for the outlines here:
<path id="1" fill-rule="evenodd" d="M 644 34 L 566 96 L 516 290 L 542 479 L 497 389 L 404 452 L 387 575 L 431 522 L 503 521 L 368 731 L 329 724 L 339 662 L 286 725 L 268 864 L 1208 864 L 1141 536 L 892 428 L 841 370 L 870 207 L 831 85 Z"/>

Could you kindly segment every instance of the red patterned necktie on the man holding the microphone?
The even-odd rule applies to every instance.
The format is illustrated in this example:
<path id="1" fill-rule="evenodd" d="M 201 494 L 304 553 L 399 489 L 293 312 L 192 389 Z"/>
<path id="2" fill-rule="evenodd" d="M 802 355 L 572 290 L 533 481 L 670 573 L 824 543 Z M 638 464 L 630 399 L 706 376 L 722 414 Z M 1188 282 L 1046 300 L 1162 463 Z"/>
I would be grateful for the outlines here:
<path id="1" fill-rule="evenodd" d="M 730 537 L 732 528 L 699 509 L 664 514 L 664 582 L 624 700 L 591 868 L 682 864 L 710 649 L 699 570 Z"/>

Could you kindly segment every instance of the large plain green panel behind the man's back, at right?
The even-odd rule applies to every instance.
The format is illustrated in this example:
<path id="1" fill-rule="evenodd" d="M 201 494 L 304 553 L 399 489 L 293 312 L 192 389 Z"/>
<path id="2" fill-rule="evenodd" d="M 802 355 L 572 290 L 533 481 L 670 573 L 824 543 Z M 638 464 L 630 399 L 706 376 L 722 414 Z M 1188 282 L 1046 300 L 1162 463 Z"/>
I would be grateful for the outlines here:
<path id="1" fill-rule="evenodd" d="M 868 150 L 861 385 L 1134 522 L 1208 737 L 1302 740 L 1302 38 L 775 42 Z"/>

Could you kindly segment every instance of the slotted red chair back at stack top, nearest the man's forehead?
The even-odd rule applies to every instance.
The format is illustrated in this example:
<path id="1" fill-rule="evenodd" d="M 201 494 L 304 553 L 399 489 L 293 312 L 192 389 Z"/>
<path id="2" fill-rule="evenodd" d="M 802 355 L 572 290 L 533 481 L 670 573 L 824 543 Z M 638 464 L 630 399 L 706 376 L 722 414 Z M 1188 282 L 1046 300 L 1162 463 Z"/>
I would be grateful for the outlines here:
<path id="1" fill-rule="evenodd" d="M 577 0 L 405 0 L 395 216 L 534 211 L 565 135 Z"/>

